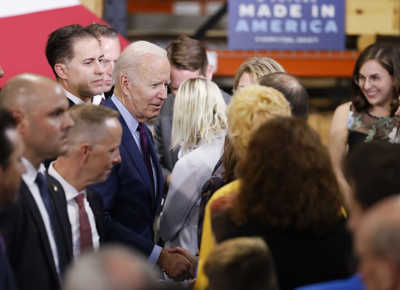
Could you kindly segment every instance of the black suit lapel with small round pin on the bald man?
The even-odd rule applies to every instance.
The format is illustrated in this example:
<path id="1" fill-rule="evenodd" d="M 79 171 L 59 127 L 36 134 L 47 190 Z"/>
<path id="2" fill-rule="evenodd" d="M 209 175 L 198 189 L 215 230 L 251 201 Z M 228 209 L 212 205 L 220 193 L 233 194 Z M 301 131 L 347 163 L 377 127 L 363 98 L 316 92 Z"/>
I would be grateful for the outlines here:
<path id="1" fill-rule="evenodd" d="M 61 184 L 49 175 L 46 171 L 47 185 L 49 189 L 50 196 L 52 197 L 54 203 L 54 210 L 58 219 L 61 223 L 62 234 L 64 240 L 66 241 L 68 258 L 71 260 L 74 256 L 72 250 L 72 230 L 70 224 L 70 218 L 68 216 L 67 201 L 65 198 L 64 189 Z"/>

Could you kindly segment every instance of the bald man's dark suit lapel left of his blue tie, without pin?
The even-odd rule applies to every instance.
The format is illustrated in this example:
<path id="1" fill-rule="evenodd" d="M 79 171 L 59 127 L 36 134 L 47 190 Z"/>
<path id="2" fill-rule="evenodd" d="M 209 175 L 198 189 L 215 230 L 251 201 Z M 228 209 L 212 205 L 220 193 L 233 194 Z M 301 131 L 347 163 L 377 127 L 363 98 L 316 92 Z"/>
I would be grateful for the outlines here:
<path id="1" fill-rule="evenodd" d="M 50 248 L 50 242 L 49 242 L 49 239 L 47 236 L 46 228 L 44 227 L 42 215 L 40 214 L 38 205 L 36 204 L 36 201 L 33 198 L 32 193 L 30 192 L 28 186 L 26 185 L 26 183 L 23 180 L 21 182 L 20 193 L 26 200 L 26 204 L 28 206 L 30 214 L 32 215 L 32 220 L 33 220 L 34 224 L 36 224 L 36 228 L 38 229 L 39 237 L 40 237 L 40 240 L 42 241 L 42 245 L 44 248 L 44 253 L 46 255 L 46 258 L 51 267 L 53 275 L 56 277 L 56 280 L 58 280 L 58 274 L 57 274 L 56 266 L 54 264 L 53 253 Z"/>

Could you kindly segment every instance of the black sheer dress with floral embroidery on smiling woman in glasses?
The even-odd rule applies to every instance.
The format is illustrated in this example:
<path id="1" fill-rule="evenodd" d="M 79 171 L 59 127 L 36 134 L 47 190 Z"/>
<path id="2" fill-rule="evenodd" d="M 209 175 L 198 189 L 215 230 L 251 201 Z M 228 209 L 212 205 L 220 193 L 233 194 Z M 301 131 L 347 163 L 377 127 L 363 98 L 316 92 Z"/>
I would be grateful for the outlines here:
<path id="1" fill-rule="evenodd" d="M 399 143 L 397 117 L 375 117 L 367 111 L 357 112 L 350 103 L 347 129 L 348 152 L 360 142 Z"/>

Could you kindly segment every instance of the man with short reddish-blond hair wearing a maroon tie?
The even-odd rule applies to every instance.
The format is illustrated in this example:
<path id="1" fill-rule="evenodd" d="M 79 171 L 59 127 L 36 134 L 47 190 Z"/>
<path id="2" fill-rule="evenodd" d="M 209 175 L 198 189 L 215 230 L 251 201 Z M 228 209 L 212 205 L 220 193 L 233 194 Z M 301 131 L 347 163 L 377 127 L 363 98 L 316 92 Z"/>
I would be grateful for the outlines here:
<path id="1" fill-rule="evenodd" d="M 48 183 L 71 224 L 68 250 L 78 258 L 83 250 L 98 251 L 104 241 L 103 201 L 88 185 L 106 180 L 121 162 L 122 127 L 118 112 L 103 106 L 80 104 L 68 113 L 75 124 L 68 132 L 68 151 L 50 163 Z"/>

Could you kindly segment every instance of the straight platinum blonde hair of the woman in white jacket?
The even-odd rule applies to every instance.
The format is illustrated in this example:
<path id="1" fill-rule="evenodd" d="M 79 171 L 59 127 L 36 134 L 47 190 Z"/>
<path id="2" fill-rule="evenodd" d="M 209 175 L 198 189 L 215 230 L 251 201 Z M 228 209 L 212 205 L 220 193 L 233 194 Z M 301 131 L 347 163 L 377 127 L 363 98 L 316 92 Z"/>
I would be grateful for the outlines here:
<path id="1" fill-rule="evenodd" d="M 182 143 L 191 151 L 202 139 L 210 143 L 215 133 L 226 130 L 226 104 L 218 86 L 206 79 L 188 79 L 180 85 L 174 103 L 171 149 Z"/>

